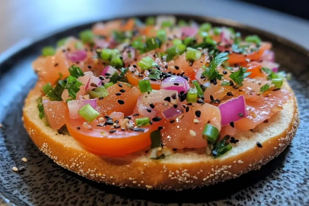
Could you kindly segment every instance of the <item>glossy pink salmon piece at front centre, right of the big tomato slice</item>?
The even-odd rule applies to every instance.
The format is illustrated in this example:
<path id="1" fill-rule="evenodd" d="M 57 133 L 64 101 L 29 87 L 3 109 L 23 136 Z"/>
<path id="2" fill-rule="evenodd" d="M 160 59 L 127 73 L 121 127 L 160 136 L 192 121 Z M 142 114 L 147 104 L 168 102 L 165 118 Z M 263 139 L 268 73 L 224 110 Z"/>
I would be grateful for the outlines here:
<path id="1" fill-rule="evenodd" d="M 197 110 L 201 111 L 200 117 L 195 115 Z M 199 123 L 193 123 L 193 119 L 199 120 Z M 175 120 L 175 122 L 170 123 L 170 120 Z M 161 130 L 161 141 L 167 147 L 176 149 L 206 147 L 207 141 L 202 138 L 206 123 L 215 126 L 220 131 L 221 115 L 218 107 L 208 103 L 200 107 L 191 107 L 188 112 L 184 111 L 182 118 L 177 117 L 165 121 L 164 128 Z"/>

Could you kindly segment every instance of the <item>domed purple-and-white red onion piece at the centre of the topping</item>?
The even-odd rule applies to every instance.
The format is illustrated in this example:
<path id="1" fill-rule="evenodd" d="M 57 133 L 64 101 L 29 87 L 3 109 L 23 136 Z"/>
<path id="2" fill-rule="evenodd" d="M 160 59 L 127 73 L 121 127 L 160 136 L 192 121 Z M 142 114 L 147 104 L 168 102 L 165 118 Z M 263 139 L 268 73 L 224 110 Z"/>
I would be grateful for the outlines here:
<path id="1" fill-rule="evenodd" d="M 178 85 L 175 85 L 175 84 L 178 84 Z M 171 76 L 171 77 L 166 78 L 162 82 L 161 88 L 166 89 L 166 90 L 176 90 L 178 91 L 178 93 L 180 93 L 181 91 L 184 91 L 184 93 L 186 93 L 188 89 L 190 88 L 190 85 L 188 81 L 183 77 Z"/>

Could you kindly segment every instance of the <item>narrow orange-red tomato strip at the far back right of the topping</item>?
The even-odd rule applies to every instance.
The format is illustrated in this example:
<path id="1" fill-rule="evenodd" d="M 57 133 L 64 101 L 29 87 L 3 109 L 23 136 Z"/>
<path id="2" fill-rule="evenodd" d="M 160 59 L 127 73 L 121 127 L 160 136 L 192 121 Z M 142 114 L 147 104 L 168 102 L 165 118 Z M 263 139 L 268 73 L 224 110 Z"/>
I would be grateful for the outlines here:
<path id="1" fill-rule="evenodd" d="M 227 60 L 227 62 L 229 64 L 237 64 L 237 63 L 240 63 L 240 62 L 245 62 L 246 59 L 257 60 L 264 53 L 265 50 L 268 50 L 270 48 L 271 48 L 271 44 L 270 43 L 263 42 L 261 44 L 260 49 L 258 51 L 256 51 L 256 52 L 251 53 L 251 54 L 243 55 L 243 54 L 231 53 L 229 55 L 229 59 Z"/>

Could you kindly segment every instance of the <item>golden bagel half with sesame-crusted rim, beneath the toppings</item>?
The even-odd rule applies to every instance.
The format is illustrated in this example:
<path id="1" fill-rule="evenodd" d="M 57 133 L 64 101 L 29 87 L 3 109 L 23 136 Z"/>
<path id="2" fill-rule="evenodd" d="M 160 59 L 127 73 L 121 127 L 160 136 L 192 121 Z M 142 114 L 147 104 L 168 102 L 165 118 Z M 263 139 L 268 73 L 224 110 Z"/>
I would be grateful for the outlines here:
<path id="1" fill-rule="evenodd" d="M 289 87 L 285 83 L 286 87 Z M 30 92 L 23 108 L 23 122 L 38 148 L 58 165 L 88 179 L 120 187 L 184 189 L 232 179 L 260 167 L 278 156 L 290 144 L 299 124 L 294 95 L 283 110 L 251 131 L 234 137 L 233 149 L 217 159 L 199 150 L 178 151 L 154 160 L 145 152 L 120 158 L 98 157 L 83 149 L 69 135 L 58 134 L 39 119 L 36 99 Z M 262 148 L 256 145 L 260 142 Z"/>

